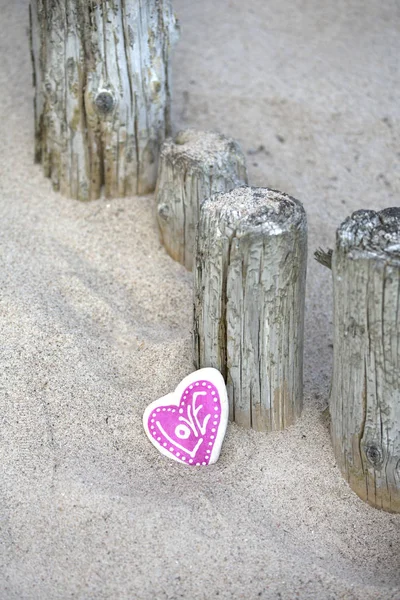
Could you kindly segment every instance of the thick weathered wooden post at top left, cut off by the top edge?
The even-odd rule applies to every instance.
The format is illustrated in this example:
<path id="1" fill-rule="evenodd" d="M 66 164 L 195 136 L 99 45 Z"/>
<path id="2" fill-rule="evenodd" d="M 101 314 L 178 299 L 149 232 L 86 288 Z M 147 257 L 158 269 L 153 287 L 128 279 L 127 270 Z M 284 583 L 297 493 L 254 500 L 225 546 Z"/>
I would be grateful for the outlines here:
<path id="1" fill-rule="evenodd" d="M 155 187 L 170 126 L 170 0 L 32 0 L 35 160 L 81 200 Z"/>

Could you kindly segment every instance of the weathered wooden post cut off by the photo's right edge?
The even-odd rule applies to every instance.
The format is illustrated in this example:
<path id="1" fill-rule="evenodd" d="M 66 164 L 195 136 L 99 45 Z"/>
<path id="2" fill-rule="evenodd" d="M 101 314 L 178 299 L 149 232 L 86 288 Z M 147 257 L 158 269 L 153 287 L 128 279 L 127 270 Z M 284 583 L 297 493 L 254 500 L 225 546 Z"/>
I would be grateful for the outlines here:
<path id="1" fill-rule="evenodd" d="M 400 512 L 400 208 L 346 219 L 332 274 L 336 460 L 363 500 Z"/>

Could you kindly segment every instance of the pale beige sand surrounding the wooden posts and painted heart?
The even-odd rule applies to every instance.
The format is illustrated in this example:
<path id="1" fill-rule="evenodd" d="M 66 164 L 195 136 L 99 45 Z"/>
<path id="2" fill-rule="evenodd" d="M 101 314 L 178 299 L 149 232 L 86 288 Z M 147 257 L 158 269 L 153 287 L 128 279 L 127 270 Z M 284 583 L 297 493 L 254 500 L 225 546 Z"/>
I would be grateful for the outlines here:
<path id="1" fill-rule="evenodd" d="M 335 467 L 331 282 L 312 260 L 398 204 L 395 0 L 175 0 L 174 124 L 233 135 L 309 217 L 305 408 L 230 425 L 220 461 L 157 453 L 145 406 L 191 371 L 191 278 L 153 197 L 89 204 L 32 164 L 27 0 L 0 0 L 0 598 L 400 598 L 400 515 Z"/>

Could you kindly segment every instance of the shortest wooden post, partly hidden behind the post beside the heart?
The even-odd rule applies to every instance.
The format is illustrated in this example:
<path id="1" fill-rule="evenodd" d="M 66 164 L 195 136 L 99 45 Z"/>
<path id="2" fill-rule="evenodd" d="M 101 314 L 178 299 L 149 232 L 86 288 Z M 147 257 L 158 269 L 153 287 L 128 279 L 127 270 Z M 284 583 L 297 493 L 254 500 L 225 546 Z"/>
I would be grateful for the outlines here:
<path id="1" fill-rule="evenodd" d="M 185 130 L 167 140 L 157 180 L 157 220 L 168 254 L 193 268 L 201 202 L 216 192 L 247 183 L 246 161 L 238 144 L 213 132 Z"/>

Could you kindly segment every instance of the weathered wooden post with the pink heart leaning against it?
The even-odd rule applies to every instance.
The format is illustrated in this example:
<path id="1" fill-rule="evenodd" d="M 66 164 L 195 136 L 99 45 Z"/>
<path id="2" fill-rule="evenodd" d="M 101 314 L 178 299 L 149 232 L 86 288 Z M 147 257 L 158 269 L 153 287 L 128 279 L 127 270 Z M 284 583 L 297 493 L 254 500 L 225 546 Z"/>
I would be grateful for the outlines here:
<path id="1" fill-rule="evenodd" d="M 230 419 L 281 430 L 303 401 L 307 221 L 298 200 L 240 187 L 207 199 L 196 247 L 194 358 L 227 383 Z"/>

